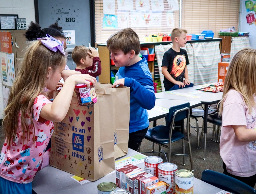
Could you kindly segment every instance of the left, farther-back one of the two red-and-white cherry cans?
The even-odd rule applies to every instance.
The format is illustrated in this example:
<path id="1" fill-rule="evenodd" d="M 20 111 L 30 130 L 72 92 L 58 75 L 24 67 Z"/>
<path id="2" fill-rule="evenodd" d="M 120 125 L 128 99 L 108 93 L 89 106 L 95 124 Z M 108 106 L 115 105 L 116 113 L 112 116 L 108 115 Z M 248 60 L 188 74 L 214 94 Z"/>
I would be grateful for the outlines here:
<path id="1" fill-rule="evenodd" d="M 158 156 L 148 156 L 144 159 L 144 170 L 145 172 L 158 176 L 158 164 L 163 163 L 163 159 Z"/>

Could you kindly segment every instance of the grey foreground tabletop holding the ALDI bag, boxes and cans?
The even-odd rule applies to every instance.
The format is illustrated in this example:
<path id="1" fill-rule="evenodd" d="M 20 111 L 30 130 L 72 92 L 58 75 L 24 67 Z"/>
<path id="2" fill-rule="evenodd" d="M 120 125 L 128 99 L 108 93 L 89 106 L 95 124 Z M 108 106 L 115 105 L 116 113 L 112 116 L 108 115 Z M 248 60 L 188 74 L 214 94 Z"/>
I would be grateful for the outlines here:
<path id="1" fill-rule="evenodd" d="M 139 154 L 138 152 L 128 149 L 128 154 L 116 160 L 128 156 L 134 156 Z M 136 166 L 144 168 L 144 162 L 139 163 Z M 97 185 L 102 182 L 114 182 L 115 183 L 115 173 L 106 175 L 105 177 L 100 178 L 94 182 L 88 182 L 83 185 L 80 185 L 78 182 L 70 178 L 72 174 L 65 171 L 59 170 L 52 166 L 47 166 L 41 169 L 35 176 L 32 181 L 32 189 L 37 194 L 45 193 L 61 193 L 61 194 L 70 194 L 70 193 L 85 193 L 85 194 L 96 194 L 98 193 Z M 222 189 L 214 187 L 202 180 L 194 178 L 194 194 L 216 194 Z"/>

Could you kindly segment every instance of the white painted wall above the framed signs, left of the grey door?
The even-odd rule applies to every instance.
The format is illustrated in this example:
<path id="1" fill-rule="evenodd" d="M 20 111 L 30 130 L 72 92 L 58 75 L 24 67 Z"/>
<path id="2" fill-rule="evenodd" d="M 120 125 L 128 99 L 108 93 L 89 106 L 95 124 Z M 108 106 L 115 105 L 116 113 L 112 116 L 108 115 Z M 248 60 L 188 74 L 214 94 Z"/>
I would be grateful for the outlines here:
<path id="1" fill-rule="evenodd" d="M 30 21 L 35 21 L 34 0 L 1 0 L 1 14 L 18 14 L 19 18 L 26 18 L 27 27 Z"/>

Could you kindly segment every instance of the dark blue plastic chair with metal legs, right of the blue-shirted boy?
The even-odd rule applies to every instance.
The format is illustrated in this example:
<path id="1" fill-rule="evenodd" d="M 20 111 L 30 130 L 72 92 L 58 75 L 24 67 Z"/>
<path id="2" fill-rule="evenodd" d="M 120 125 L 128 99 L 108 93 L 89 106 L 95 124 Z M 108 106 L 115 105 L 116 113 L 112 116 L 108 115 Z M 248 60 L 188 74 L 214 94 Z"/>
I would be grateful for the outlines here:
<path id="1" fill-rule="evenodd" d="M 190 103 L 181 104 L 178 106 L 173 106 L 169 109 L 169 115 L 168 115 L 168 122 L 171 123 L 170 126 L 164 126 L 164 125 L 158 125 L 156 127 L 153 127 L 151 129 L 148 129 L 145 139 L 158 144 L 159 150 L 158 153 L 164 154 L 166 157 L 166 160 L 170 162 L 171 160 L 171 142 L 178 141 L 182 139 L 182 146 L 183 146 L 183 154 L 175 154 L 175 155 L 182 155 L 183 156 L 183 166 L 184 164 L 184 156 L 190 156 L 190 163 L 191 163 L 191 169 L 193 171 L 193 162 L 192 162 L 192 153 L 191 153 L 191 146 L 190 146 L 190 137 L 189 134 L 187 135 L 187 139 L 184 138 L 184 127 L 183 127 L 183 133 L 173 130 L 173 124 L 175 121 L 184 120 L 187 118 L 187 129 L 189 127 L 189 115 L 190 115 Z M 189 155 L 185 154 L 185 141 L 188 141 L 189 145 Z M 168 144 L 168 145 L 166 145 Z M 167 159 L 166 153 L 161 150 L 161 146 L 166 147 L 168 149 L 168 155 L 169 159 Z M 141 153 L 152 153 L 152 152 L 141 152 Z"/>

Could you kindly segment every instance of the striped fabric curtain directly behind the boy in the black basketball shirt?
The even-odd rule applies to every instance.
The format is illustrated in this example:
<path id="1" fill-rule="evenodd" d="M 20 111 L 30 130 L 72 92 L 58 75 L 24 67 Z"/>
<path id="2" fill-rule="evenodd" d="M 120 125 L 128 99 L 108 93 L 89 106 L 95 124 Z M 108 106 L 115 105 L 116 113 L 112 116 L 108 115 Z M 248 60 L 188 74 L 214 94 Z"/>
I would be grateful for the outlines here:
<path id="1" fill-rule="evenodd" d="M 172 43 L 168 45 L 157 45 L 155 46 L 155 51 L 156 51 L 156 56 L 157 56 L 157 64 L 159 68 L 159 75 L 160 75 L 160 81 L 161 81 L 161 86 L 162 86 L 162 92 L 165 91 L 164 88 L 164 75 L 162 74 L 162 61 L 163 61 L 163 56 L 167 50 L 169 50 L 172 47 Z M 189 65 L 188 67 L 188 73 L 189 73 L 189 81 L 194 82 L 194 56 L 193 56 L 193 48 L 191 44 L 186 44 L 186 47 L 183 49 L 187 50 L 188 52 L 188 57 L 189 57 Z"/>

